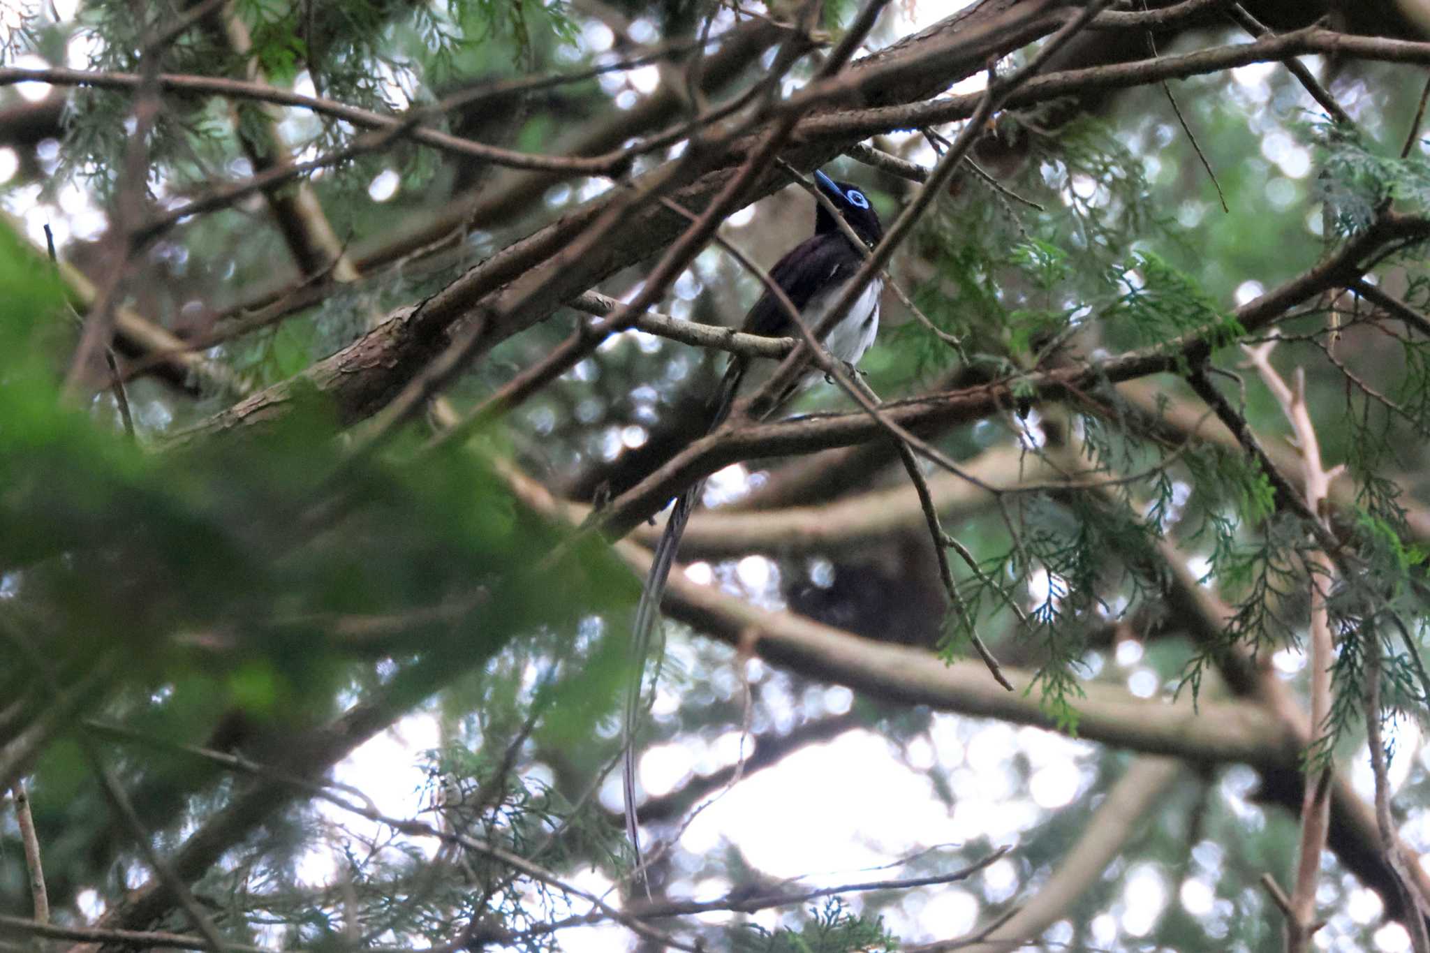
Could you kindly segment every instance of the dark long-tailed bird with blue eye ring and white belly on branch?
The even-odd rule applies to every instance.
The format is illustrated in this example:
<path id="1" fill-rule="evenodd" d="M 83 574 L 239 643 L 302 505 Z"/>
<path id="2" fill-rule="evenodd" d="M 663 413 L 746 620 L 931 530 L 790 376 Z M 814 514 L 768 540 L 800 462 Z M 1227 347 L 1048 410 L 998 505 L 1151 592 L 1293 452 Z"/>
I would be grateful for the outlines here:
<path id="1" fill-rule="evenodd" d="M 801 321 L 811 330 L 819 323 L 828 307 L 839 297 L 844 284 L 854 277 L 872 249 L 884 237 L 884 226 L 874 210 L 868 196 L 858 187 L 847 181 L 835 181 L 822 171 L 814 173 L 815 186 L 824 193 L 829 203 L 839 211 L 848 223 L 854 236 L 865 246 L 858 247 L 839 227 L 825 204 L 817 203 L 814 234 L 786 251 L 775 267 L 769 270 L 769 279 L 784 291 L 789 303 L 799 311 Z M 852 367 L 864 357 L 864 351 L 874 343 L 879 330 L 879 297 L 884 291 L 884 281 L 872 279 L 859 297 L 849 307 L 848 313 L 824 336 L 824 346 L 835 360 Z M 741 330 L 766 337 L 797 337 L 799 330 L 792 324 L 791 316 L 784 303 L 768 287 L 755 301 L 745 316 Z M 708 423 L 705 431 L 709 433 L 725 423 L 735 401 L 752 393 L 766 380 L 776 361 L 752 359 L 734 354 L 729 367 L 721 380 L 719 390 L 708 404 Z M 771 406 L 768 413 L 774 413 L 788 401 L 798 390 L 814 383 L 818 376 L 809 366 L 794 384 L 791 384 Z M 665 593 L 665 583 L 675 562 L 675 552 L 679 549 L 685 524 L 695 509 L 696 500 L 705 487 L 704 480 L 698 480 L 686 487 L 675 499 L 671 516 L 665 523 L 665 532 L 655 547 L 651 562 L 651 572 L 646 576 L 645 587 L 641 590 L 641 602 L 636 606 L 635 624 L 632 626 L 631 654 L 633 676 L 626 689 L 625 713 L 622 722 L 622 777 L 621 789 L 625 802 L 626 837 L 635 856 L 636 879 L 646 883 L 641 872 L 641 839 L 635 813 L 635 729 L 641 714 L 641 689 L 645 682 L 645 660 L 651 649 L 651 636 L 655 630 L 659 613 L 661 597 Z M 646 884 L 646 893 L 649 886 Z"/>

